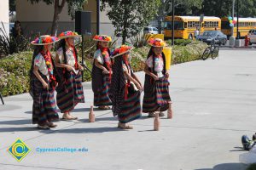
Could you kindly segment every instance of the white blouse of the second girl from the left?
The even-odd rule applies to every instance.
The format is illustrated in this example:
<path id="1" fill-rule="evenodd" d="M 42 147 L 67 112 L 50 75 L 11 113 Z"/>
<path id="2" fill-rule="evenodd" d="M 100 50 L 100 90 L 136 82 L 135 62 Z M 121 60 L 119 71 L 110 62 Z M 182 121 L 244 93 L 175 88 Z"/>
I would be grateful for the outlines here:
<path id="1" fill-rule="evenodd" d="M 57 54 L 59 56 L 59 59 L 60 59 L 60 63 L 61 64 L 65 64 L 64 63 L 64 55 L 63 55 L 63 49 L 62 48 L 59 48 L 58 51 L 57 51 Z M 75 57 L 73 56 L 73 48 L 68 48 L 66 50 L 66 56 L 67 56 L 67 65 L 70 65 L 72 67 L 74 67 L 75 63 L 76 63 L 76 59 Z"/>

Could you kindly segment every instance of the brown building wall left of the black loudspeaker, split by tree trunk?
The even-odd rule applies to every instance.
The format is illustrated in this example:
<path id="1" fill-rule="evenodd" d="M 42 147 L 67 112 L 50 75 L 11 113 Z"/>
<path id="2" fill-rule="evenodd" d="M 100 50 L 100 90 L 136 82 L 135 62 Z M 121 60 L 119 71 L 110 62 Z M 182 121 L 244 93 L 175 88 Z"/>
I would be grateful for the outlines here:
<path id="1" fill-rule="evenodd" d="M 16 1 L 17 20 L 20 20 L 26 35 L 49 34 L 54 15 L 54 4 L 44 2 L 30 3 L 27 0 Z M 67 4 L 60 14 L 58 32 L 73 30 L 74 21 L 67 12 Z"/>

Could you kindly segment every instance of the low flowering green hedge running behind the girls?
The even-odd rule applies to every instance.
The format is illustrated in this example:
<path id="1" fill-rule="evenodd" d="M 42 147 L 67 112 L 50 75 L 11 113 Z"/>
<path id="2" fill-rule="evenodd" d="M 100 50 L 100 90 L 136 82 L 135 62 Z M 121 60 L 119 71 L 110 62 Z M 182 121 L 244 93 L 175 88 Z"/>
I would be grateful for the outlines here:
<path id="1" fill-rule="evenodd" d="M 186 46 L 174 46 L 172 49 L 172 65 L 201 59 L 201 54 L 207 44 L 202 42 L 190 42 Z M 131 66 L 134 71 L 143 71 L 149 47 L 135 48 L 131 56 Z M 4 59 L 0 59 L 0 93 L 3 96 L 22 94 L 29 89 L 29 71 L 32 61 L 32 52 L 21 52 Z M 86 65 L 92 68 L 93 59 L 86 59 Z M 91 80 L 90 72 L 84 71 L 84 81 Z"/>

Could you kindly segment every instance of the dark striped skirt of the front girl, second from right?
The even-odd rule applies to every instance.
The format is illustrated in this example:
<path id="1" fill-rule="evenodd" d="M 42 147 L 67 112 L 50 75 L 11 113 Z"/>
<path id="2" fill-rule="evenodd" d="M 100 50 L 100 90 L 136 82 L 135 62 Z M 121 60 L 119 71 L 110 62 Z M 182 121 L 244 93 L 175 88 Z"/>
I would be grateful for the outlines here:
<path id="1" fill-rule="evenodd" d="M 136 120 L 141 114 L 140 92 L 128 94 L 127 99 L 120 105 L 120 113 L 118 114 L 120 123 L 127 123 Z"/>

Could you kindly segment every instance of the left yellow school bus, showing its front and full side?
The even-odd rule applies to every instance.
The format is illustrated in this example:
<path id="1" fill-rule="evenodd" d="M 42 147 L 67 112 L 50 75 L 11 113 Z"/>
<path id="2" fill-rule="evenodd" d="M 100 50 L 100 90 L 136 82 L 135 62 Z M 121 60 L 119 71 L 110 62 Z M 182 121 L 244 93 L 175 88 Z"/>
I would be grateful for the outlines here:
<path id="1" fill-rule="evenodd" d="M 174 37 L 182 39 L 192 39 L 196 28 L 203 31 L 220 31 L 221 20 L 218 17 L 205 16 L 202 23 L 200 23 L 200 16 L 175 16 L 174 17 Z M 165 38 L 172 38 L 172 16 L 166 16 Z"/>

